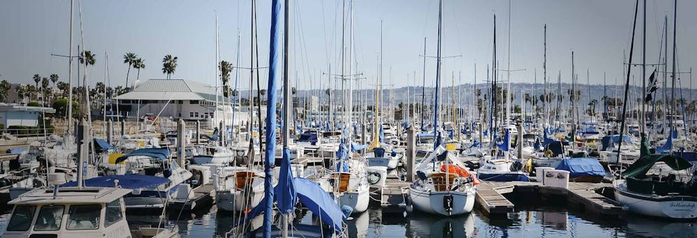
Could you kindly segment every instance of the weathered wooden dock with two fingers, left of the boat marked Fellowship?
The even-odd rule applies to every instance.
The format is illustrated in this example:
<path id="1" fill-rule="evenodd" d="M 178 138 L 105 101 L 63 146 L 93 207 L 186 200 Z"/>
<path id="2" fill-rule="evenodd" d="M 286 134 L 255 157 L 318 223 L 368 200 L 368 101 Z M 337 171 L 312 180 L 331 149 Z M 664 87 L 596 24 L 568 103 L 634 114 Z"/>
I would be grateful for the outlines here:
<path id="1" fill-rule="evenodd" d="M 539 182 L 482 182 L 477 186 L 477 207 L 490 215 L 514 212 L 515 205 L 503 194 L 511 192 L 538 193 L 539 196 L 565 196 L 567 202 L 584 212 L 603 216 L 622 216 L 627 207 L 597 193 L 598 189 L 613 189 L 611 184 L 569 182 L 569 189 L 546 187 Z"/>

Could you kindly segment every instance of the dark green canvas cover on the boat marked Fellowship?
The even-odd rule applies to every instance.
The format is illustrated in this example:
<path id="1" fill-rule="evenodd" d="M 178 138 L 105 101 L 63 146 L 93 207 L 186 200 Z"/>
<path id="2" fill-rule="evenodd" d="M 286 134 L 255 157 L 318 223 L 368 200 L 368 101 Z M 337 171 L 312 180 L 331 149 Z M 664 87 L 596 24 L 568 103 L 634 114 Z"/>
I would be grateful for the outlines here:
<path id="1" fill-rule="evenodd" d="M 631 164 L 622 175 L 634 179 L 643 179 L 646 177 L 646 172 L 657 162 L 664 162 L 673 170 L 684 170 L 692 167 L 689 161 L 682 157 L 671 154 L 651 154 L 649 152 L 648 141 L 644 134 L 641 135 L 641 154 L 634 164 Z"/>

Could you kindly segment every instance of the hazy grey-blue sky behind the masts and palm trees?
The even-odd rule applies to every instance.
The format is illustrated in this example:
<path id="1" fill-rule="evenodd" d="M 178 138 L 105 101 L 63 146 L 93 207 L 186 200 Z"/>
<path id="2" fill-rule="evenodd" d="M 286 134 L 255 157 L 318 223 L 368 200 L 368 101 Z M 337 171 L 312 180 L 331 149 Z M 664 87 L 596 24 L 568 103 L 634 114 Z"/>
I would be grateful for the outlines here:
<path id="1" fill-rule="evenodd" d="M 542 38 L 547 24 L 547 73 L 556 81 L 571 77 L 571 51 L 575 51 L 576 72 L 585 83 L 590 70 L 592 84 L 608 84 L 622 80 L 623 51 L 629 53 L 634 2 L 606 1 L 512 1 L 510 27 L 510 68 L 526 69 L 512 73 L 513 81 L 542 82 Z M 673 34 L 673 1 L 647 1 L 647 62 L 657 63 L 664 16 L 668 15 L 668 40 Z M 696 62 L 694 40 L 697 39 L 697 1 L 678 2 L 677 45 L 680 71 L 687 71 Z M 328 72 L 336 73 L 340 62 L 342 2 L 291 0 L 291 66 L 290 75 L 299 88 L 317 88 L 318 79 Z M 500 68 L 507 68 L 509 1 L 443 2 L 443 56 L 461 55 L 443 60 L 443 82 L 471 83 L 477 63 L 477 80 L 487 76 L 492 61 L 493 15 L 496 14 L 497 51 Z M 215 84 L 215 12 L 220 22 L 220 51 L 223 60 L 241 67 L 250 66 L 251 1 L 83 1 L 82 29 L 86 49 L 96 54 L 97 63 L 89 69 L 90 84 L 104 79 L 105 51 L 109 54 L 109 78 L 112 86 L 125 84 L 127 65 L 123 54 L 131 51 L 144 58 L 146 68 L 141 79 L 164 78 L 162 57 L 178 56 L 173 78 L 191 79 Z M 347 7 L 348 9 L 348 3 Z M 641 63 L 641 24 L 643 6 L 639 6 L 639 22 L 635 42 L 634 63 Z M 80 43 L 80 24 L 75 1 L 74 44 Z M 215 12 L 214 12 L 215 11 Z M 31 83 L 33 74 L 48 77 L 57 73 L 63 81 L 68 77 L 66 58 L 50 54 L 68 54 L 70 1 L 0 2 L 0 78 L 13 83 Z M 353 63 L 354 72 L 367 79 L 362 88 L 371 87 L 376 77 L 380 49 L 380 22 L 383 21 L 383 77 L 385 84 L 421 85 L 424 36 L 427 55 L 436 54 L 437 1 L 392 0 L 354 1 Z M 268 31 L 270 1 L 257 3 L 260 65 L 268 65 Z M 348 18 L 348 17 L 347 17 Z M 350 24 L 346 25 L 349 45 Z M 238 52 L 240 39 L 240 62 Z M 82 46 L 81 46 L 82 48 Z M 672 52 L 672 49 L 668 49 Z M 77 48 L 75 48 L 77 54 Z M 672 53 L 668 54 L 669 61 Z M 348 61 L 348 54 L 346 54 Z M 670 67 L 670 66 L 669 66 Z M 391 70 L 390 70 L 391 69 Z M 347 69 L 348 70 L 348 69 Z M 649 68 L 647 74 L 650 74 Z M 641 77 L 641 68 L 632 69 Z M 266 70 L 262 71 L 266 79 Z M 294 75 L 297 72 L 297 80 Z M 391 73 L 390 73 L 391 72 Z M 413 74 L 416 74 L 414 79 Z M 633 74 L 634 74 L 633 73 Z M 427 59 L 426 81 L 432 85 L 436 75 L 435 60 Z M 391 76 L 391 79 L 390 79 Z M 135 79 L 131 70 L 130 79 Z M 504 75 L 505 77 L 505 75 Z M 683 86 L 689 84 L 682 76 Z M 688 80 L 685 80 L 688 79 Z M 234 84 L 235 76 L 231 79 Z M 637 79 L 638 80 L 638 79 Z M 248 88 L 249 72 L 240 72 L 240 88 Z M 328 76 L 321 79 L 326 88 Z"/>

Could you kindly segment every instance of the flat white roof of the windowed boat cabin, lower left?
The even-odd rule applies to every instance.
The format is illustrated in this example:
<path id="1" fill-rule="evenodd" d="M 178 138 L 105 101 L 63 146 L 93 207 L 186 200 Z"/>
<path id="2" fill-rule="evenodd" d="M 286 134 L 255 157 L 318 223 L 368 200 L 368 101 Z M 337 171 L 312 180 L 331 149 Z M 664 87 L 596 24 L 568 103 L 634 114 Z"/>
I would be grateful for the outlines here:
<path id="1" fill-rule="evenodd" d="M 34 189 L 11 200 L 8 204 L 70 204 L 70 203 L 110 203 L 130 193 L 130 189 L 106 187 L 60 188 L 54 198 L 52 189 Z"/>

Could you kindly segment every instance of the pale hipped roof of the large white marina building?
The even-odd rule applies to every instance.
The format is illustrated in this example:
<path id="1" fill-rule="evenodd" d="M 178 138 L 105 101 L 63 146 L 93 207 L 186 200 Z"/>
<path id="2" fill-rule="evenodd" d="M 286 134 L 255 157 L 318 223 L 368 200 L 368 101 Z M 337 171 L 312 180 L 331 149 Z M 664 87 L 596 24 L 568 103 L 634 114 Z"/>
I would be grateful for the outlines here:
<path id="1" fill-rule="evenodd" d="M 215 87 L 184 79 L 150 79 L 116 100 L 208 100 L 215 101 Z M 219 102 L 229 101 L 218 95 Z"/>

